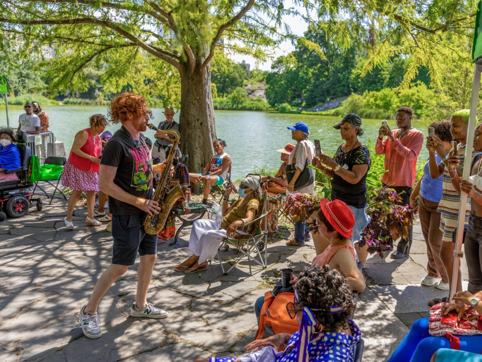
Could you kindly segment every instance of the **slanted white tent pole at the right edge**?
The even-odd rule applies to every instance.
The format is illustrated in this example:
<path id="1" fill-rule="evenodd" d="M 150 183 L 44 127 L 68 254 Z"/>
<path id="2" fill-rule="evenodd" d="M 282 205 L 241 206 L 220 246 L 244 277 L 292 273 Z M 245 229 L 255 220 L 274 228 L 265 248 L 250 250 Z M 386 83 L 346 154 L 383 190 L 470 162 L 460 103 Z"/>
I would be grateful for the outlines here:
<path id="1" fill-rule="evenodd" d="M 472 83 L 472 97 L 470 98 L 470 116 L 469 125 L 467 128 L 467 141 L 465 147 L 465 160 L 464 160 L 464 171 L 462 174 L 463 180 L 469 180 L 470 176 L 470 165 L 472 163 L 472 148 L 474 145 L 474 131 L 475 125 L 477 123 L 477 106 L 479 102 L 479 88 L 481 84 L 481 71 L 478 69 L 477 64 L 474 65 L 474 81 Z M 456 242 L 454 251 L 454 269 L 452 273 L 452 283 L 450 286 L 451 299 L 455 292 L 457 292 L 457 282 L 458 282 L 458 269 L 460 266 L 460 258 L 463 258 L 464 253 L 462 252 L 462 238 L 464 236 L 464 223 L 465 223 L 465 210 L 467 209 L 467 194 L 462 192 L 460 194 L 460 207 L 458 213 L 457 222 L 457 232 L 456 232 Z"/>

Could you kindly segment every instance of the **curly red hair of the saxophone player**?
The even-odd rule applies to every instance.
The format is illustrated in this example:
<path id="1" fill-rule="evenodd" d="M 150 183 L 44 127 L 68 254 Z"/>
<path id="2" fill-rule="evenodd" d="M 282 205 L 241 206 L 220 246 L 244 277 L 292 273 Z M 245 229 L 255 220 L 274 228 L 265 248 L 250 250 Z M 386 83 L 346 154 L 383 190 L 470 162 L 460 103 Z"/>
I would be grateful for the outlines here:
<path id="1" fill-rule="evenodd" d="M 144 97 L 124 92 L 112 99 L 107 114 L 112 123 L 117 124 L 127 121 L 128 113 L 133 113 L 135 118 L 138 118 L 141 114 L 148 114 L 150 119 L 154 118 L 152 111 L 147 108 L 147 102 Z"/>

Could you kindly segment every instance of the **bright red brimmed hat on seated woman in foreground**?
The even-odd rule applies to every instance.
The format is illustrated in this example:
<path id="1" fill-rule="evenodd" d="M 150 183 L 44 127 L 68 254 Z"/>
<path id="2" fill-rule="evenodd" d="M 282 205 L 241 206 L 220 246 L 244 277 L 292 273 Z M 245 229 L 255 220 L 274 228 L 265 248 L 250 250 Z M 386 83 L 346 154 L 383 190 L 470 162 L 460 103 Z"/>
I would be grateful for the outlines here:
<path id="1" fill-rule="evenodd" d="M 353 236 L 355 216 L 347 204 L 341 200 L 330 201 L 323 199 L 320 201 L 320 207 L 326 220 L 340 235 L 348 239 Z"/>

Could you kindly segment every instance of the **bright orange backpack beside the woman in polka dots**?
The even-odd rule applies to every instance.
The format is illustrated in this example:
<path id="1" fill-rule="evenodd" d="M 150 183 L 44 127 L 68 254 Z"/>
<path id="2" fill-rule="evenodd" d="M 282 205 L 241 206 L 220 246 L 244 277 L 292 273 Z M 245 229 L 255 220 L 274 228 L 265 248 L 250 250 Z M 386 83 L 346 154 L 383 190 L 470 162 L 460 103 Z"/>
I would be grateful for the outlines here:
<path id="1" fill-rule="evenodd" d="M 254 339 L 267 338 L 278 333 L 294 334 L 300 326 L 291 319 L 286 304 L 293 302 L 294 293 L 279 293 L 276 297 L 271 291 L 265 293 L 265 302 L 259 314 L 259 327 Z"/>

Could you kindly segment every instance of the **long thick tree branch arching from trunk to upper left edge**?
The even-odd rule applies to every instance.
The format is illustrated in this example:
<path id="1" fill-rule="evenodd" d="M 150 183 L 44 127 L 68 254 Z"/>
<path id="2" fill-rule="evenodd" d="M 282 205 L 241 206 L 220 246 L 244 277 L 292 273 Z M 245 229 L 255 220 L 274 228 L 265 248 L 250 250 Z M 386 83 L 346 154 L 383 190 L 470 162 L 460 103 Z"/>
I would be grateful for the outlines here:
<path id="1" fill-rule="evenodd" d="M 94 25 L 100 25 L 106 28 L 110 28 L 126 39 L 129 39 L 131 42 L 135 43 L 136 45 L 140 46 L 150 54 L 157 56 L 158 58 L 161 58 L 162 60 L 168 62 L 172 66 L 174 66 L 176 69 L 181 68 L 181 64 L 171 58 L 170 56 L 167 56 L 164 54 L 165 52 L 160 52 L 157 49 L 153 48 L 152 46 L 146 44 L 142 40 L 136 38 L 134 35 L 129 33 L 128 31 L 124 30 L 121 28 L 118 24 L 114 24 L 108 21 L 103 21 L 103 20 L 98 20 L 98 19 L 92 19 L 92 18 L 77 18 L 77 19 L 53 19 L 53 20 L 19 20 L 19 21 L 12 21 L 11 19 L 7 18 L 0 18 L 0 23 L 9 23 L 9 24 L 18 24 L 18 25 L 74 25 L 74 24 L 94 24 Z"/>

